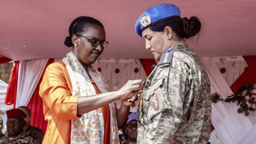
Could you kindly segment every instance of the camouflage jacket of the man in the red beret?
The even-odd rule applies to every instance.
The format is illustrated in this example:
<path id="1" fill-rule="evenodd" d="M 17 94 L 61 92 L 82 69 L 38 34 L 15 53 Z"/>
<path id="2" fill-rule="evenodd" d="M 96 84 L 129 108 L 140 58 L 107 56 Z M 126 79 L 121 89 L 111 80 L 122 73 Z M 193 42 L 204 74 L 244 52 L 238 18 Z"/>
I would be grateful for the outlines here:
<path id="1" fill-rule="evenodd" d="M 0 138 L 0 144 L 41 144 L 33 137 L 26 136 L 26 131 L 23 131 L 16 138 L 9 138 L 8 133 Z"/>

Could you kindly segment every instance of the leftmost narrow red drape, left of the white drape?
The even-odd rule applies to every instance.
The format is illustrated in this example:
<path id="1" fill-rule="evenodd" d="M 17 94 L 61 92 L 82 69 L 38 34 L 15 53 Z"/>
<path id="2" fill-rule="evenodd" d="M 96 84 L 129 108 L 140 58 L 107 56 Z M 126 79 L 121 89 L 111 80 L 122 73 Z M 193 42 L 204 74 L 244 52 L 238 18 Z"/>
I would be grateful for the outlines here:
<path id="1" fill-rule="evenodd" d="M 19 64 L 20 64 L 20 61 L 16 61 L 15 65 L 12 66 L 12 72 L 9 79 L 5 101 L 4 101 L 4 104 L 6 105 L 13 104 L 13 108 L 15 108 L 15 105 L 16 105 Z"/>

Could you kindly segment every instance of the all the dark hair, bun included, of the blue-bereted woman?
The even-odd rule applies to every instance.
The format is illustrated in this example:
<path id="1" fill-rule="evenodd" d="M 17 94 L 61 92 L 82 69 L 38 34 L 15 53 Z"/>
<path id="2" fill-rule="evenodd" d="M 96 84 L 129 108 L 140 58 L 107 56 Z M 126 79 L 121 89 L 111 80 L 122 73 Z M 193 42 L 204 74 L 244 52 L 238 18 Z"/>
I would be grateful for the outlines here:
<path id="1" fill-rule="evenodd" d="M 175 33 L 178 40 L 196 36 L 196 34 L 201 30 L 201 22 L 196 16 L 192 16 L 190 19 L 187 17 L 181 19 L 179 16 L 174 16 L 150 25 L 149 29 L 155 32 L 163 32 L 166 26 L 170 26 L 172 28 L 172 31 Z"/>

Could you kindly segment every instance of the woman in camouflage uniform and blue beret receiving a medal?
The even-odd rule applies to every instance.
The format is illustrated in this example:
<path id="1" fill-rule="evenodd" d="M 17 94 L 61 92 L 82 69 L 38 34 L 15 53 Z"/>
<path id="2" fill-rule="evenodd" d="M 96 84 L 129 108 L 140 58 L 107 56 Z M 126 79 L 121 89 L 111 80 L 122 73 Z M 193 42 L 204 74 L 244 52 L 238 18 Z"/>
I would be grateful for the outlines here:
<path id="1" fill-rule="evenodd" d="M 184 44 L 200 29 L 198 18 L 181 18 L 174 4 L 153 6 L 136 21 L 137 35 L 160 60 L 144 83 L 137 143 L 206 144 L 210 138 L 210 81 L 196 53 Z"/>

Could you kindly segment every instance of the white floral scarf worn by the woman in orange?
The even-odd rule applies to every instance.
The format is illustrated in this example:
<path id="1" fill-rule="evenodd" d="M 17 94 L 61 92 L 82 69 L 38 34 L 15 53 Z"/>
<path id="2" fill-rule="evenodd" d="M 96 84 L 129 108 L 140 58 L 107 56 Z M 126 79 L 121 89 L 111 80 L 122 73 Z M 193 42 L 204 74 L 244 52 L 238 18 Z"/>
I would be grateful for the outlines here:
<path id="1" fill-rule="evenodd" d="M 90 96 L 95 95 L 95 89 L 91 80 L 86 73 L 84 67 L 77 60 L 73 52 L 69 52 L 67 57 L 62 59 L 66 65 L 68 74 L 72 84 L 72 95 Z M 100 92 L 109 92 L 103 76 L 93 66 L 87 66 L 89 75 L 92 77 Z M 116 110 L 114 102 L 108 104 L 110 109 L 110 140 L 109 144 L 118 144 L 118 129 L 116 120 Z M 104 140 L 104 118 L 102 109 L 98 108 L 91 112 L 82 115 L 79 119 L 74 119 L 71 122 L 71 144 L 103 144 Z"/>

